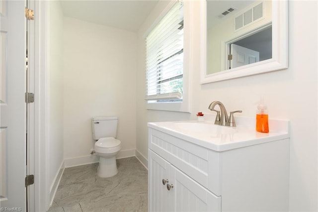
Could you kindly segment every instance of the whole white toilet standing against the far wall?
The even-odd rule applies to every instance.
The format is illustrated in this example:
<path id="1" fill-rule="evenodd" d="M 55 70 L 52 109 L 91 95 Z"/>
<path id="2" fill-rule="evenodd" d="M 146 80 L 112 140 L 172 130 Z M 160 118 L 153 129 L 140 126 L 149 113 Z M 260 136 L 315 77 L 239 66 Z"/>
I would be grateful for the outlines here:
<path id="1" fill-rule="evenodd" d="M 116 116 L 102 116 L 92 118 L 92 133 L 95 142 L 94 150 L 99 156 L 97 176 L 108 178 L 118 173 L 116 155 L 121 149 L 117 134 Z"/>

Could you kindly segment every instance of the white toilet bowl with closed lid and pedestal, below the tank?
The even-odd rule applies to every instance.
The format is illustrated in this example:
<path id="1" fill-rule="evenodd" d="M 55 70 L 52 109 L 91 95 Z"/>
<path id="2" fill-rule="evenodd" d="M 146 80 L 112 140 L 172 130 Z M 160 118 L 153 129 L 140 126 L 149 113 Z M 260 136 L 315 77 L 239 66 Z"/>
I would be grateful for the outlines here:
<path id="1" fill-rule="evenodd" d="M 116 155 L 120 149 L 120 140 L 113 137 L 100 138 L 95 142 L 94 150 L 99 156 L 98 177 L 108 178 L 118 173 Z"/>

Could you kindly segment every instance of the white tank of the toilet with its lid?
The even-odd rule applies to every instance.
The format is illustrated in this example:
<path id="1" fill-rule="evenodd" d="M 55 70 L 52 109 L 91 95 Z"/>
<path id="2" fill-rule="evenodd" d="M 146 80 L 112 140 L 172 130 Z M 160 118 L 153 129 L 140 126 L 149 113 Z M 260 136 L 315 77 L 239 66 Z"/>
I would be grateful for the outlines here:
<path id="1" fill-rule="evenodd" d="M 103 137 L 114 137 L 117 134 L 116 116 L 93 117 L 91 119 L 93 139 L 98 140 Z"/>

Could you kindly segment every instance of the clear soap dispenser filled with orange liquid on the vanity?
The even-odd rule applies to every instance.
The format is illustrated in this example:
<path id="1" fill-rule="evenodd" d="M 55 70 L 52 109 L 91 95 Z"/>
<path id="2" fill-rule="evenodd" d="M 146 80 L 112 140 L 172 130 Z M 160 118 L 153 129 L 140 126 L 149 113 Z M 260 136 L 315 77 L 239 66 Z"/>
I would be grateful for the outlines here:
<path id="1" fill-rule="evenodd" d="M 269 132 L 267 106 L 264 104 L 263 97 L 261 97 L 260 103 L 257 106 L 256 131 L 265 133 Z"/>

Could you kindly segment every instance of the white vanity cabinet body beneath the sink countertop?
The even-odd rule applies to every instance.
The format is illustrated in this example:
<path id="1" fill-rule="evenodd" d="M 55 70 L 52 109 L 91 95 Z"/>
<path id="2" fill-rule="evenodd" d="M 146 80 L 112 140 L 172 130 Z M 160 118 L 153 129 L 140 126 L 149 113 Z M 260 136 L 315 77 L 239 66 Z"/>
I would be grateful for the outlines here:
<path id="1" fill-rule="evenodd" d="M 219 148 L 164 123 L 148 123 L 149 212 L 288 211 L 288 133 Z"/>

